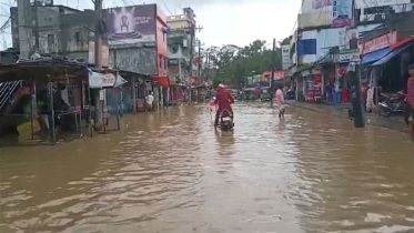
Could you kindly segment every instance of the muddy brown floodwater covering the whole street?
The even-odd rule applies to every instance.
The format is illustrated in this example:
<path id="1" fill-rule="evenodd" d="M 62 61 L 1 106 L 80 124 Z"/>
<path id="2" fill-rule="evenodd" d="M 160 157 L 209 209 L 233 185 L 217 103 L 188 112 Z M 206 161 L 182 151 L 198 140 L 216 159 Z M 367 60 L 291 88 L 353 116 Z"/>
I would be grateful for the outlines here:
<path id="1" fill-rule="evenodd" d="M 408 135 L 261 103 L 233 133 L 206 107 L 129 115 L 123 130 L 4 148 L 0 232 L 414 232 Z"/>

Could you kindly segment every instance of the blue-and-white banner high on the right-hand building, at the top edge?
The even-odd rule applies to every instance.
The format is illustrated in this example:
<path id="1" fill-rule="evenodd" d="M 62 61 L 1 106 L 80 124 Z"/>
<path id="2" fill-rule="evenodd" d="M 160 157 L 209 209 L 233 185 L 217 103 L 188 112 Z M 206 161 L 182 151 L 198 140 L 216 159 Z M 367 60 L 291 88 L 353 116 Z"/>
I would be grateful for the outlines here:
<path id="1" fill-rule="evenodd" d="M 342 28 L 351 26 L 353 0 L 333 0 L 332 27 Z"/>

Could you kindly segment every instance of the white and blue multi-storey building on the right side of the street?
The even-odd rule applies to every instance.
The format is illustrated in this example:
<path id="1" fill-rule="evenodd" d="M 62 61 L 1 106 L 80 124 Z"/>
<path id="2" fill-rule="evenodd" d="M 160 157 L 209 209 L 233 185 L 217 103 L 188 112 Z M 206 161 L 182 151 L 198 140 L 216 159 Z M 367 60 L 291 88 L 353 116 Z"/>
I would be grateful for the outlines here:
<path id="1" fill-rule="evenodd" d="M 412 11 L 411 2 L 303 0 L 290 43 L 289 73 L 296 74 L 296 93 L 302 94 L 299 99 L 323 95 L 329 80 L 336 90 L 343 89 L 340 70 L 351 61 L 360 61 L 362 41 L 368 40 L 361 34 L 387 24 L 392 16 Z"/>

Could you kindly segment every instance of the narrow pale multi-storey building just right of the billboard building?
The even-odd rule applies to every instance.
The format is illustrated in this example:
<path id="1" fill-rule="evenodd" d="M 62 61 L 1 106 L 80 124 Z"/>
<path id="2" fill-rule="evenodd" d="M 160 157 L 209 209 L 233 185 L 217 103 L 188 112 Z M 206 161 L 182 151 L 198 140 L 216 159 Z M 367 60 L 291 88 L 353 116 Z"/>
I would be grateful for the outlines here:
<path id="1" fill-rule="evenodd" d="M 196 65 L 193 62 L 195 49 L 192 50 L 193 54 L 190 53 L 191 47 L 194 48 L 195 44 L 194 18 L 194 11 L 191 8 L 185 8 L 183 14 L 166 17 L 166 22 L 171 28 L 168 36 L 170 75 L 178 83 L 185 85 L 189 84 L 190 78 L 194 80 L 196 77 Z"/>

